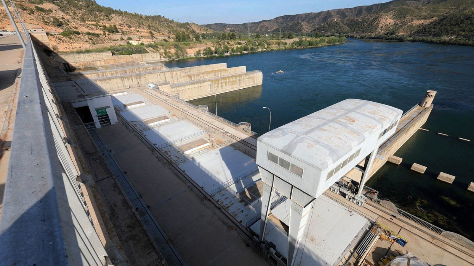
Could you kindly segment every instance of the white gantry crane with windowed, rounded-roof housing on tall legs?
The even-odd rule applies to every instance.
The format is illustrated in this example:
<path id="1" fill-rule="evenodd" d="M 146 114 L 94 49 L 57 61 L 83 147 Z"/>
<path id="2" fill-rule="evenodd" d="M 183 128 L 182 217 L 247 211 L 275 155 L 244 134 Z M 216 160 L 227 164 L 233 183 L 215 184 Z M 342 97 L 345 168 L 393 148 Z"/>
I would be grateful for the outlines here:
<path id="1" fill-rule="evenodd" d="M 392 106 L 347 99 L 258 138 L 256 163 L 264 182 L 259 236 L 263 241 L 272 193 L 285 195 L 291 200 L 288 266 L 314 199 L 352 168 L 363 172 L 355 196 L 365 201 L 361 193 L 378 148 L 395 132 L 401 114 Z"/>

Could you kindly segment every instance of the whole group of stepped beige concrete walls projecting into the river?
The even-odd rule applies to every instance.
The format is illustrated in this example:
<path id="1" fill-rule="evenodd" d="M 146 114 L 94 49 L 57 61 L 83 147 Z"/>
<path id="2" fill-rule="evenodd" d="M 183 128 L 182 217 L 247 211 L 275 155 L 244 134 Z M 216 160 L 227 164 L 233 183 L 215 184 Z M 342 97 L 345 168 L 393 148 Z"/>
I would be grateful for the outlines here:
<path id="1" fill-rule="evenodd" d="M 62 74 L 53 80 L 91 80 L 102 89 L 118 90 L 146 86 L 189 101 L 237 89 L 262 85 L 261 71 L 246 71 L 245 66 L 227 68 L 226 63 L 167 68 L 155 55 L 111 55 L 109 53 L 58 54 L 50 63 Z M 64 71 L 72 70 L 66 73 Z M 90 70 L 93 69 L 93 70 Z M 63 71 L 64 70 L 64 71 Z"/>

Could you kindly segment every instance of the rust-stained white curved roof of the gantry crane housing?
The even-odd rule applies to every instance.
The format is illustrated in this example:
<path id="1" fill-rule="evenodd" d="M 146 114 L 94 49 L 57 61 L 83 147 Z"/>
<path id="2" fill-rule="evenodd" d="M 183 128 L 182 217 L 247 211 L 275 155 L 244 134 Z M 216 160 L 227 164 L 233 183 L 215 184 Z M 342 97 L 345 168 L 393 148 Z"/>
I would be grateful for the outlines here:
<path id="1" fill-rule="evenodd" d="M 346 99 L 265 133 L 258 142 L 322 171 L 356 151 L 401 113 L 392 106 Z"/>

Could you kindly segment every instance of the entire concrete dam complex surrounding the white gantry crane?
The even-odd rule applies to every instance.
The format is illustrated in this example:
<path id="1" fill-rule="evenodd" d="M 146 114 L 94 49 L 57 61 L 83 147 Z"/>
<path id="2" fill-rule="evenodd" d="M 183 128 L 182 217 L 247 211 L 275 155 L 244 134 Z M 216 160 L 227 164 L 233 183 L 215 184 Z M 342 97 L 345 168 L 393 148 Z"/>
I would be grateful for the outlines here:
<path id="1" fill-rule="evenodd" d="M 267 196 L 263 233 L 260 227 L 265 183 L 252 125 L 186 101 L 225 92 L 228 84 L 259 85 L 258 72 L 246 81 L 245 69 L 226 65 L 173 70 L 149 58 L 120 56 L 117 62 L 104 55 L 66 66 L 45 56 L 27 36 L 0 225 L 2 261 L 55 261 L 65 254 L 70 264 L 97 265 L 111 265 L 111 259 L 127 265 L 376 265 L 407 251 L 430 264 L 474 261 L 469 240 L 379 200 L 370 187 L 349 185 L 357 183 L 352 171 L 363 169 L 368 179 L 426 122 L 432 105 L 423 104 L 422 95 L 412 109 L 377 129 L 386 135 L 374 142 L 371 169 L 361 160 L 359 169 L 345 174 L 348 167 L 335 162 L 343 172 L 331 176 L 334 184 L 300 213 L 308 222 L 297 233 L 301 243 L 293 260 L 289 212 L 297 210 L 284 188 Z M 353 160 L 367 155 L 356 154 L 347 153 Z M 290 162 L 288 173 L 298 175 L 292 164 L 299 167 Z M 24 198 L 39 205 L 22 204 Z M 38 213 L 53 213 L 46 220 L 55 226 L 28 219 Z M 31 231 L 24 234 L 24 228 Z M 61 238 L 52 238 L 51 230 Z M 26 242 L 51 242 L 56 249 L 20 257 L 32 249 Z"/>

